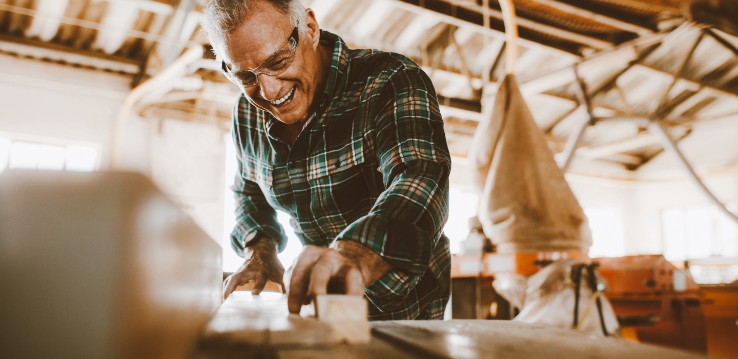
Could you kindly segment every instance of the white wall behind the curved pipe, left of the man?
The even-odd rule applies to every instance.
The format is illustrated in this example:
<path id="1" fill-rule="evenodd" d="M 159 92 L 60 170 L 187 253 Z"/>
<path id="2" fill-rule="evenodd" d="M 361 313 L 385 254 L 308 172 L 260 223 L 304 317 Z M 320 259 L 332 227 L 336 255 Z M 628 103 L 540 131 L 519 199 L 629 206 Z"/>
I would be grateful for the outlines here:
<path id="1" fill-rule="evenodd" d="M 109 168 L 113 129 L 130 75 L 0 54 L 0 132 L 16 140 L 99 145 Z M 220 244 L 224 130 L 131 115 L 120 169 L 150 176 Z"/>

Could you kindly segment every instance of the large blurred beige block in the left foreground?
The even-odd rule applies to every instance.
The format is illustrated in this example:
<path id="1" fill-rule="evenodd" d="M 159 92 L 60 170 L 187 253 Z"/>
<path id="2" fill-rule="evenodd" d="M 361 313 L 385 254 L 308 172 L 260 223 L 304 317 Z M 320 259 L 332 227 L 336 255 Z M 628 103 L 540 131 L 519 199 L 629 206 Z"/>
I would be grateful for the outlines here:
<path id="1" fill-rule="evenodd" d="M 0 358 L 184 358 L 221 247 L 141 174 L 0 176 Z"/>

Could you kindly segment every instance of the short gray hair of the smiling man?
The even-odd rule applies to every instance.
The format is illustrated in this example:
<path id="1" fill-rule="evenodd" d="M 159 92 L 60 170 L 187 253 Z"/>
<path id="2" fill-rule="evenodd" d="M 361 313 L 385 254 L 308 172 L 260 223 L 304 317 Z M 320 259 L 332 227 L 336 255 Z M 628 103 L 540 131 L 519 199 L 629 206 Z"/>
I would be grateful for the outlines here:
<path id="1" fill-rule="evenodd" d="M 203 12 L 202 28 L 205 35 L 213 44 L 213 49 L 223 44 L 228 35 L 244 24 L 249 13 L 249 7 L 255 1 L 266 1 L 272 4 L 277 11 L 289 16 L 293 26 L 300 24 L 300 33 L 305 33 L 305 7 L 299 0 L 210 0 Z"/>

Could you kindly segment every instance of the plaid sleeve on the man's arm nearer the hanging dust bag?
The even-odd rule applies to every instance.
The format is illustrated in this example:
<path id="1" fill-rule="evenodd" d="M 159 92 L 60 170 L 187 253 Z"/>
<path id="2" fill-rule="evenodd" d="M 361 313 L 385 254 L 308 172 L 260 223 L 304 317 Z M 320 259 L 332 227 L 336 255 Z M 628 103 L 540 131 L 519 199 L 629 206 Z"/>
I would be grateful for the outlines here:
<path id="1" fill-rule="evenodd" d="M 451 160 L 424 72 L 406 68 L 391 75 L 377 101 L 375 145 L 385 190 L 337 240 L 359 242 L 391 264 L 386 278 L 367 290 L 400 300 L 425 273 L 443 233 Z"/>

